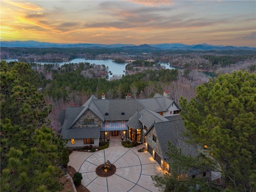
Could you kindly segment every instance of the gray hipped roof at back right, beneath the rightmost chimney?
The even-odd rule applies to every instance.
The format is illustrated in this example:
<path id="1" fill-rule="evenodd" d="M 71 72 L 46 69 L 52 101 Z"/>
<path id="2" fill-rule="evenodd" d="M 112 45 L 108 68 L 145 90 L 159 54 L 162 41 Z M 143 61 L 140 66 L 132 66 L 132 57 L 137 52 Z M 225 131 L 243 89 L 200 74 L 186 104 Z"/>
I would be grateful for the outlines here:
<path id="1" fill-rule="evenodd" d="M 153 98 L 139 99 L 139 102 L 147 109 L 154 112 L 168 111 L 170 105 L 174 102 L 160 94 L 155 94 Z"/>

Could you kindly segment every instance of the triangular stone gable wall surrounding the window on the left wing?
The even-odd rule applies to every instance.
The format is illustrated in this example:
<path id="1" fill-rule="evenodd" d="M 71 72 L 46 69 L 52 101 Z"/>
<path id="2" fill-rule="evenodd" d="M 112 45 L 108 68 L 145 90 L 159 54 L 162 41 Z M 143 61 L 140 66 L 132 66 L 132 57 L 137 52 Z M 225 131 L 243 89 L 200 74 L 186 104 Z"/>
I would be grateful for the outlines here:
<path id="1" fill-rule="evenodd" d="M 94 125 L 85 125 L 84 120 L 94 119 Z M 74 124 L 74 127 L 102 127 L 102 120 L 98 118 L 93 112 L 87 110 L 80 119 Z"/>

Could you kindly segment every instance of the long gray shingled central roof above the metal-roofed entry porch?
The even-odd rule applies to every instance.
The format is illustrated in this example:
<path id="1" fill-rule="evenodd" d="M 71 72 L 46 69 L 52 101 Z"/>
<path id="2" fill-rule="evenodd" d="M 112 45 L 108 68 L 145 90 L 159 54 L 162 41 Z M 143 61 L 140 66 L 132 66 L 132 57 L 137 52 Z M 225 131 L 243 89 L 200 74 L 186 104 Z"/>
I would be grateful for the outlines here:
<path id="1" fill-rule="evenodd" d="M 92 100 L 92 103 L 97 106 L 105 121 L 129 120 L 144 108 L 136 99 L 99 99 Z"/>

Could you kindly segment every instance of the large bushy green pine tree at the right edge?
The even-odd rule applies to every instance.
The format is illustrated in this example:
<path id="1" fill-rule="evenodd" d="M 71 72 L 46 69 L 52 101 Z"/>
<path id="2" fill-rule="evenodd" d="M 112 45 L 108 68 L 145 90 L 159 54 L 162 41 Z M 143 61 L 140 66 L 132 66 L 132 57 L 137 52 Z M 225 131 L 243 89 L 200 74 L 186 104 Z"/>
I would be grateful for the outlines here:
<path id="1" fill-rule="evenodd" d="M 179 102 L 188 137 L 220 164 L 222 188 L 255 191 L 256 74 L 233 72 L 196 87 Z"/>

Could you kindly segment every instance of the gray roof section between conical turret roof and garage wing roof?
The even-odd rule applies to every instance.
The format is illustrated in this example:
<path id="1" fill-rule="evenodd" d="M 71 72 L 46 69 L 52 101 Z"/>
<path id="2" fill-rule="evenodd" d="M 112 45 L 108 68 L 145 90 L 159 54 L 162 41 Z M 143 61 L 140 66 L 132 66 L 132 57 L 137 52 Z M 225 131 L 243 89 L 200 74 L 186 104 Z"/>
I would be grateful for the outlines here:
<path id="1" fill-rule="evenodd" d="M 142 122 L 147 128 L 151 128 L 154 123 L 168 121 L 168 119 L 166 119 L 162 115 L 146 108 L 141 110 L 140 114 L 142 115 L 142 117 L 140 118 L 140 122 Z"/>

